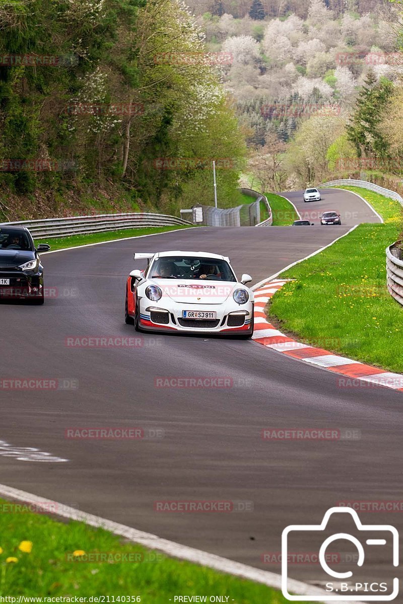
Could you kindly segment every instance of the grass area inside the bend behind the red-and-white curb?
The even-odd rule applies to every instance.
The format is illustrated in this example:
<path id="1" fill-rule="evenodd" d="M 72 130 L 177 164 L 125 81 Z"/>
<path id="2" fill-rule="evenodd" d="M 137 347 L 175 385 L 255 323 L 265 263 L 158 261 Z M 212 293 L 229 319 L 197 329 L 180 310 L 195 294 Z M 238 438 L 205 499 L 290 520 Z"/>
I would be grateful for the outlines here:
<path id="1" fill-rule="evenodd" d="M 401 206 L 357 189 L 385 224 L 359 225 L 320 254 L 282 273 L 294 279 L 269 306 L 283 329 L 307 343 L 403 371 L 402 308 L 386 289 L 385 248 L 399 236 Z"/>

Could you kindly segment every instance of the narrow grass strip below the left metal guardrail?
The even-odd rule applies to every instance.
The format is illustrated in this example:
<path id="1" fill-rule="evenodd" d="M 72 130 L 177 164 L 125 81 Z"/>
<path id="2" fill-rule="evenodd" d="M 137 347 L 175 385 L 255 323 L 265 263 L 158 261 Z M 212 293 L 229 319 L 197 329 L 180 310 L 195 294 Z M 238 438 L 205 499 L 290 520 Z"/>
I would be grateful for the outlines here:
<path id="1" fill-rule="evenodd" d="M 119 231 L 108 231 L 108 233 L 88 233 L 85 235 L 72 235 L 70 237 L 37 237 L 35 243 L 49 243 L 51 249 L 73 248 L 76 245 L 88 245 L 89 243 L 100 243 L 103 241 L 113 241 L 114 239 L 123 239 L 123 237 L 141 237 L 155 233 L 166 233 L 166 231 L 175 231 L 179 228 L 189 228 L 185 225 L 158 226 L 158 228 L 127 228 Z"/>

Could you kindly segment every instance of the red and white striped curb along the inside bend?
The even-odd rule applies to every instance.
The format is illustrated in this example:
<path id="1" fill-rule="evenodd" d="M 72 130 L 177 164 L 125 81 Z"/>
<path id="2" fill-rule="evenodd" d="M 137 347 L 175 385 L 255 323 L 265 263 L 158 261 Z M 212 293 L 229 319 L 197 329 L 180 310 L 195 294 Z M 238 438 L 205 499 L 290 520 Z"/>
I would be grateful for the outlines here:
<path id="1" fill-rule="evenodd" d="M 352 387 L 359 385 L 359 381 L 369 382 L 369 385 L 384 386 L 392 390 L 403 391 L 403 375 L 391 373 L 383 369 L 366 365 L 344 356 L 334 355 L 321 348 L 315 348 L 309 344 L 301 344 L 284 335 L 276 327 L 272 326 L 264 312 L 268 300 L 276 294 L 288 280 L 268 281 L 254 291 L 254 332 L 252 339 L 267 348 L 277 350 L 283 354 L 311 365 L 317 365 L 346 376 L 347 379 L 340 381 L 340 385 Z"/>

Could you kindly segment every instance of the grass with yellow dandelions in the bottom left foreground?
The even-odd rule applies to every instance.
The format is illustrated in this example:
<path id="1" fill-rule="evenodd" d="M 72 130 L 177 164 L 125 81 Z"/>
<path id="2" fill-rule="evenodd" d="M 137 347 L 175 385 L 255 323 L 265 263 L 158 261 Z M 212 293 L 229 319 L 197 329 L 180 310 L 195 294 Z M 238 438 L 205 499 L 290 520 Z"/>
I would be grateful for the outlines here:
<path id="1" fill-rule="evenodd" d="M 288 601 L 259 583 L 166 557 L 123 542 L 101 528 L 59 522 L 32 512 L 10 513 L 13 504 L 0 500 L 0 505 L 1 596 L 140 596 L 146 604 L 166 604 L 184 594 L 227 595 L 236 604 Z M 19 550 L 22 541 L 31 542 L 30 553 Z M 74 557 L 77 550 L 84 551 L 87 560 L 91 554 L 92 561 Z M 104 561 L 100 561 L 101 554 Z M 121 555 L 126 561 L 121 561 Z M 8 557 L 17 562 L 7 563 Z M 133 600 L 126 599 L 129 601 Z"/>

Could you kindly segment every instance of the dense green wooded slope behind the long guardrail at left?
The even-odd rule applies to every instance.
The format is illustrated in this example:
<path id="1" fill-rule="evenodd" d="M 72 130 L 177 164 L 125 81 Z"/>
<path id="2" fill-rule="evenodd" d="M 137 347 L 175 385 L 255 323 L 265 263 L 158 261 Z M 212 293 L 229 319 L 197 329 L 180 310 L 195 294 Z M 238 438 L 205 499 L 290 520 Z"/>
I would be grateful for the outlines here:
<path id="1" fill-rule="evenodd" d="M 1 0 L 0 28 L 0 219 L 211 203 L 211 158 L 233 201 L 245 144 L 184 4 Z"/>

